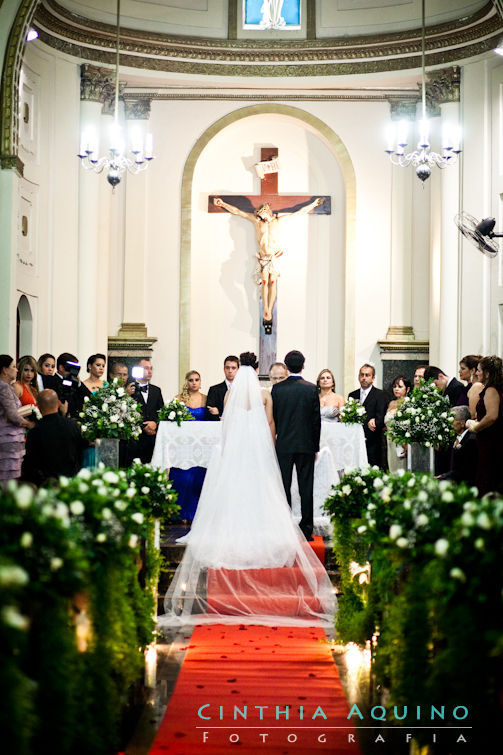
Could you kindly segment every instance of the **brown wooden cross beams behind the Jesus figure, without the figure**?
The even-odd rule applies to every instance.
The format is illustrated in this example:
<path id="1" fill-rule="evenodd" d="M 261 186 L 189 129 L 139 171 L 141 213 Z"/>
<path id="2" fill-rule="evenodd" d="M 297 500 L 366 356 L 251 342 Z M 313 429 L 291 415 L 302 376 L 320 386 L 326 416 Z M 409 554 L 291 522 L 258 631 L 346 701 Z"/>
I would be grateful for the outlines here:
<path id="1" fill-rule="evenodd" d="M 260 150 L 260 161 L 274 160 L 278 157 L 277 147 L 263 147 Z M 266 173 L 260 181 L 260 194 L 243 195 L 210 195 L 208 197 L 208 212 L 228 212 L 224 207 L 214 204 L 214 200 L 219 198 L 229 205 L 233 205 L 242 212 L 253 213 L 257 207 L 263 204 L 269 204 L 273 212 L 282 214 L 297 212 L 306 205 L 313 202 L 318 197 L 323 198 L 323 204 L 314 207 L 310 214 L 313 215 L 330 215 L 331 204 L 330 197 L 314 195 L 301 196 L 292 194 L 278 194 L 278 172 Z M 269 367 L 276 361 L 276 333 L 277 333 L 277 299 L 274 302 L 272 310 L 272 325 L 264 325 L 264 313 L 262 297 L 260 300 L 260 344 L 259 344 L 259 376 L 268 378 Z"/>

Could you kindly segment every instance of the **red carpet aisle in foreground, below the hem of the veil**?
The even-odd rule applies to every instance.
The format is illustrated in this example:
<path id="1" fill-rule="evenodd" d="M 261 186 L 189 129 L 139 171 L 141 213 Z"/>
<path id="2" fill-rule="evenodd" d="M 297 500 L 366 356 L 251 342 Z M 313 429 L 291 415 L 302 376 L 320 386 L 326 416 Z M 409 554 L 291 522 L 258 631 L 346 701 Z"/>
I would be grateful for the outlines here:
<path id="1" fill-rule="evenodd" d="M 348 710 L 322 629 L 198 626 L 150 755 L 360 755 Z"/>

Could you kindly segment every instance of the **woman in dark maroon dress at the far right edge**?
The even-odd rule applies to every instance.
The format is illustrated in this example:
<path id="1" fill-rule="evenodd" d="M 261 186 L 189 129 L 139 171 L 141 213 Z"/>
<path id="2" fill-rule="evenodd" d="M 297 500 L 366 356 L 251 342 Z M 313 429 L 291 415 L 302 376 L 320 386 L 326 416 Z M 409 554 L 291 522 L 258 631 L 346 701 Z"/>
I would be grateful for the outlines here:
<path id="1" fill-rule="evenodd" d="M 503 364 L 499 357 L 483 357 L 476 371 L 484 384 L 477 403 L 477 420 L 466 426 L 477 437 L 479 495 L 503 493 Z"/>

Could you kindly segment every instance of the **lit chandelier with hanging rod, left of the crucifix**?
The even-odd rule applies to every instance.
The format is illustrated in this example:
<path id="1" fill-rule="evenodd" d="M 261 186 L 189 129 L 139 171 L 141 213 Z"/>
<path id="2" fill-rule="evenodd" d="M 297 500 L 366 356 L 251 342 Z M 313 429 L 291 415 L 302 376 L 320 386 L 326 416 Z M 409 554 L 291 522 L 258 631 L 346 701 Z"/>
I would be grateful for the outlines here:
<path id="1" fill-rule="evenodd" d="M 131 156 L 126 153 L 124 139 L 121 135 L 119 125 L 119 50 L 120 50 L 120 0 L 117 0 L 117 37 L 116 37 L 116 55 L 115 55 L 115 103 L 114 103 L 114 120 L 111 128 L 111 139 L 108 155 L 98 156 L 97 138 L 92 131 L 84 132 L 80 145 L 78 157 L 81 165 L 85 170 L 92 170 L 95 173 L 107 171 L 107 181 L 115 189 L 127 170 L 128 173 L 136 175 L 142 170 L 148 168 L 153 160 L 153 137 L 152 134 L 146 134 L 143 143 L 142 137 L 136 133 L 132 137 L 132 144 L 129 149 Z"/>

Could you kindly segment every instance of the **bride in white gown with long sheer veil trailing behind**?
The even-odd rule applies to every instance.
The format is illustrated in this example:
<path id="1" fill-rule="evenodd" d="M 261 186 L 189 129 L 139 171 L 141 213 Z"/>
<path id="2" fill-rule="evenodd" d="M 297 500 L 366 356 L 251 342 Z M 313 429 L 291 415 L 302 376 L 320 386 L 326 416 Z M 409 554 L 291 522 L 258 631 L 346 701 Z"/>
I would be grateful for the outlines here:
<path id="1" fill-rule="evenodd" d="M 286 501 L 254 354 L 241 367 L 159 626 L 333 626 L 328 575 Z M 268 398 L 264 399 L 264 394 Z"/>

